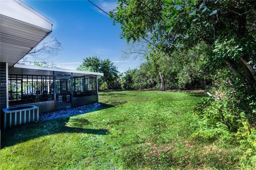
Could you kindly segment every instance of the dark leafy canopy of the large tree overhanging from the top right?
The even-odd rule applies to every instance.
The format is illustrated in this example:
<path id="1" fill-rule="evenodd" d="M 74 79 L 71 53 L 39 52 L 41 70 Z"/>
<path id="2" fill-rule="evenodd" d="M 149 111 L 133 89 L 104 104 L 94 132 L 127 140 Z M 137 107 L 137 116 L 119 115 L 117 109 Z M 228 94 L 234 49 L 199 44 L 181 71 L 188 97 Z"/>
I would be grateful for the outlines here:
<path id="1" fill-rule="evenodd" d="M 121 26 L 122 38 L 128 42 L 139 41 L 140 36 L 150 38 L 171 57 L 203 41 L 212 49 L 209 65 L 227 66 L 250 89 L 248 94 L 254 94 L 255 6 L 255 1 L 234 0 L 120 0 L 111 16 L 129 25 L 130 29 Z"/>

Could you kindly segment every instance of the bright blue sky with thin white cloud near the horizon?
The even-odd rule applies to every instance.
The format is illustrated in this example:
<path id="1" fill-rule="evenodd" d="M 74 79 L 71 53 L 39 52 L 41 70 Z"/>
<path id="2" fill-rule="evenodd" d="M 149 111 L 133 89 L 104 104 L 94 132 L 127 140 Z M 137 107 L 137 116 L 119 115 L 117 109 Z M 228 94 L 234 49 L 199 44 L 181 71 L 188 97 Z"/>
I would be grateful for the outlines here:
<path id="1" fill-rule="evenodd" d="M 120 25 L 88 1 L 23 1 L 54 22 L 51 35 L 63 50 L 52 58 L 58 67 L 76 69 L 87 56 L 109 58 L 120 72 L 138 67 L 141 60 L 122 57 L 126 40 L 119 38 Z M 93 1 L 109 12 L 116 1 Z"/>

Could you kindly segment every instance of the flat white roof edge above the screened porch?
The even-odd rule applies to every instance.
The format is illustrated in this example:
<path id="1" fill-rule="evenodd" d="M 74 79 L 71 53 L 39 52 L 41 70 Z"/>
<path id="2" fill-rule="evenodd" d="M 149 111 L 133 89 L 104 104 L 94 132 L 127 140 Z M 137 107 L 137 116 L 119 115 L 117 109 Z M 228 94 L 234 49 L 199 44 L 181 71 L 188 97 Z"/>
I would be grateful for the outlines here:
<path id="1" fill-rule="evenodd" d="M 69 70 L 69 69 L 59 69 L 51 67 L 42 67 L 35 65 L 25 65 L 25 64 L 15 64 L 13 67 L 9 68 L 9 74 L 21 74 L 21 75 L 70 75 L 73 76 L 103 76 L 103 73 L 89 72 L 89 71 L 79 71 L 79 70 Z"/>

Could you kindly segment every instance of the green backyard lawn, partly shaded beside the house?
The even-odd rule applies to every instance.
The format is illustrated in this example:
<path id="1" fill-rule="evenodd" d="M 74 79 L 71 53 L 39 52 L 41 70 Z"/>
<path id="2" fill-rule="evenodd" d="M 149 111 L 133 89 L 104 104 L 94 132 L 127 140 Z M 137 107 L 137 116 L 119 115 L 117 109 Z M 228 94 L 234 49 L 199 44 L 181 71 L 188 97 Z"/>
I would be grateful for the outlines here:
<path id="1" fill-rule="evenodd" d="M 201 93 L 101 92 L 99 111 L 1 133 L 1 169 L 234 169 L 239 150 L 198 142 Z"/>

